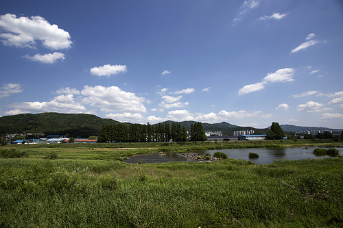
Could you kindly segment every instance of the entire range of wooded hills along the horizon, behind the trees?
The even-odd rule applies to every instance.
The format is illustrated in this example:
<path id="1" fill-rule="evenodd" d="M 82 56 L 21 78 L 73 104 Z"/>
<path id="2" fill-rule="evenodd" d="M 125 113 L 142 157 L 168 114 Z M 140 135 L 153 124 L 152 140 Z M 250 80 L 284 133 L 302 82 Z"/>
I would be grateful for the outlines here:
<path id="1" fill-rule="evenodd" d="M 88 136 L 98 136 L 104 123 L 115 124 L 115 121 L 110 118 L 100 118 L 92 114 L 60 114 L 56 112 L 45 112 L 39 114 L 18 114 L 13 116 L 0 117 L 0 135 L 5 134 L 45 134 L 45 135 L 65 135 L 73 136 L 74 138 L 88 138 Z M 163 123 L 171 123 L 173 121 L 165 121 Z M 181 126 L 185 126 L 187 131 L 190 131 L 191 125 L 196 121 L 182 121 Z M 130 125 L 130 123 L 126 123 Z M 268 128 L 258 129 L 254 127 L 241 127 L 230 123 L 202 123 L 205 131 L 222 131 L 223 136 L 232 136 L 233 131 L 254 130 L 255 134 L 265 134 Z M 341 129 L 329 129 L 327 127 L 299 127 L 295 125 L 281 125 L 285 134 L 305 131 L 312 129 L 333 130 L 341 132 Z"/>

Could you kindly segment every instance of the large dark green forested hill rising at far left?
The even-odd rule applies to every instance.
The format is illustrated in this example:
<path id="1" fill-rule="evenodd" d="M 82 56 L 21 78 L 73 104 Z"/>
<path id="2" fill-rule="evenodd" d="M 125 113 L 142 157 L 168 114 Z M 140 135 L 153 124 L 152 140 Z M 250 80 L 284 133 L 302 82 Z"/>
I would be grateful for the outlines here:
<path id="1" fill-rule="evenodd" d="M 0 134 L 33 133 L 45 135 L 65 135 L 75 138 L 97 136 L 104 123 L 119 123 L 109 118 L 91 114 L 60 114 L 47 112 L 40 114 L 19 114 L 0 118 Z"/>

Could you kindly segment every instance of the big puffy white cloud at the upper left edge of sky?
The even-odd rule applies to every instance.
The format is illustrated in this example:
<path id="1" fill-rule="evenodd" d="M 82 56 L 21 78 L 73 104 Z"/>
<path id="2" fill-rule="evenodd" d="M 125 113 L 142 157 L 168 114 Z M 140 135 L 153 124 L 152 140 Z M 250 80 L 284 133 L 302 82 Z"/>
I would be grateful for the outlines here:
<path id="1" fill-rule="evenodd" d="M 73 43 L 67 31 L 51 25 L 41 16 L 16 18 L 15 14 L 1 15 L 0 27 L 4 45 L 35 48 L 36 40 L 40 40 L 47 49 L 59 50 L 68 49 Z"/>

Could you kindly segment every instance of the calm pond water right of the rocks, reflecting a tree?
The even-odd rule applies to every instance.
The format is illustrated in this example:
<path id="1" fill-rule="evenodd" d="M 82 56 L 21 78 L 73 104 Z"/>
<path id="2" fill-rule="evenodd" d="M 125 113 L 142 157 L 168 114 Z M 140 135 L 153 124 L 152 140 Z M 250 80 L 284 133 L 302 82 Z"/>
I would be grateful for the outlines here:
<path id="1" fill-rule="evenodd" d="M 211 157 L 217 151 L 225 153 L 228 158 L 242 159 L 246 161 L 254 162 L 255 164 L 270 164 L 274 160 L 303 160 L 303 159 L 320 159 L 325 156 L 316 156 L 312 152 L 318 147 L 308 147 L 309 149 L 303 149 L 302 147 L 285 147 L 285 148 L 250 148 L 250 149 L 222 149 L 222 150 L 205 150 L 196 151 L 200 154 L 209 153 Z M 340 151 L 339 155 L 343 155 L 343 147 L 320 147 L 322 149 L 335 148 Z M 249 152 L 257 153 L 258 158 L 249 158 Z"/>

